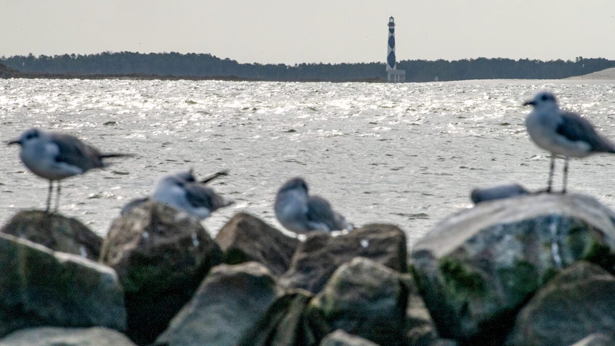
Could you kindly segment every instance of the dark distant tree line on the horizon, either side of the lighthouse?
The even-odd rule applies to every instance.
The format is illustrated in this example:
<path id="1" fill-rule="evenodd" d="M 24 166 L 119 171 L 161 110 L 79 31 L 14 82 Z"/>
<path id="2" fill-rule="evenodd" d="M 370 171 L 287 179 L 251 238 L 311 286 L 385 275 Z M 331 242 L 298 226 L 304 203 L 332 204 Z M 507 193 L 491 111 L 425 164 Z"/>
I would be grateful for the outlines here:
<path id="1" fill-rule="evenodd" d="M 1 57 L 0 63 L 25 73 L 46 74 L 149 74 L 158 76 L 224 77 L 264 81 L 382 80 L 385 65 L 371 63 L 301 63 L 296 65 L 238 63 L 211 54 L 103 52 Z M 559 79 L 615 67 L 615 60 L 577 57 L 572 60 L 512 60 L 475 58 L 462 60 L 402 60 L 406 81 L 458 81 L 464 79 Z"/>

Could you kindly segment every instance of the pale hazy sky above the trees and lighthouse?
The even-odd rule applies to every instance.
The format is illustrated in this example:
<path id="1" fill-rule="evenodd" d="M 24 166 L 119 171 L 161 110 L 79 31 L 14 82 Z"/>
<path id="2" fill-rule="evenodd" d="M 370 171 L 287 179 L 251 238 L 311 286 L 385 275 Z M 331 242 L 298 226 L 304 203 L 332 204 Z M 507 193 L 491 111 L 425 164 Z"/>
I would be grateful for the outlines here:
<path id="1" fill-rule="evenodd" d="M 613 0 L 0 0 L 0 55 L 211 53 L 239 62 L 615 59 Z"/>

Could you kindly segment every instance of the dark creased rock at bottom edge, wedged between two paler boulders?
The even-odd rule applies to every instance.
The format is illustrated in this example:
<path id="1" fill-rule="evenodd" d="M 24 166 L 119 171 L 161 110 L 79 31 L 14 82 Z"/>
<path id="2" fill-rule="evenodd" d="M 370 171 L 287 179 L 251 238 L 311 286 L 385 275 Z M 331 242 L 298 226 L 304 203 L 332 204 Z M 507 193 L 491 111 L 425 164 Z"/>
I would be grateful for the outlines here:
<path id="1" fill-rule="evenodd" d="M 279 297 L 269 310 L 247 332 L 238 346 L 317 345 L 328 332 L 328 326 L 314 323 L 305 313 L 314 297 L 303 289 L 292 289 Z"/>

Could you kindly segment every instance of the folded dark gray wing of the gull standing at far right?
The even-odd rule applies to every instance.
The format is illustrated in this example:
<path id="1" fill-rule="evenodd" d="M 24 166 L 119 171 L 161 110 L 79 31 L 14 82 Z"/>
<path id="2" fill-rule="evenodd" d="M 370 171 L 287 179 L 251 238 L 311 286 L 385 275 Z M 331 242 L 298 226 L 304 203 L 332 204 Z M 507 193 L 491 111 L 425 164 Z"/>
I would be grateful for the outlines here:
<path id="1" fill-rule="evenodd" d="M 592 147 L 592 151 L 615 152 L 615 146 L 609 140 L 599 135 L 587 119 L 574 113 L 562 113 L 557 133 L 571 141 L 582 141 Z"/>

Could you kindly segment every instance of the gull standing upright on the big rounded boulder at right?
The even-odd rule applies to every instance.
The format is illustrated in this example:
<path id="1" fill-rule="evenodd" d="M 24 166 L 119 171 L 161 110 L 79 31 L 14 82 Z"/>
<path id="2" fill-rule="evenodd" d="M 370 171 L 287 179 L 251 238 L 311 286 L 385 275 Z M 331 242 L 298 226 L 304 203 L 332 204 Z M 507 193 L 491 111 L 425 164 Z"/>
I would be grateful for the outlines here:
<path id="1" fill-rule="evenodd" d="M 523 105 L 534 107 L 525 119 L 530 138 L 538 147 L 551 153 L 547 192 L 551 192 L 553 184 L 555 156 L 563 156 L 565 160 L 561 193 L 566 193 L 569 158 L 584 158 L 595 153 L 615 153 L 615 145 L 598 134 L 589 121 L 574 113 L 560 110 L 552 93 L 539 92 L 534 99 Z"/>

